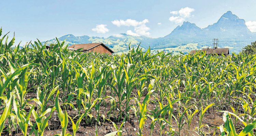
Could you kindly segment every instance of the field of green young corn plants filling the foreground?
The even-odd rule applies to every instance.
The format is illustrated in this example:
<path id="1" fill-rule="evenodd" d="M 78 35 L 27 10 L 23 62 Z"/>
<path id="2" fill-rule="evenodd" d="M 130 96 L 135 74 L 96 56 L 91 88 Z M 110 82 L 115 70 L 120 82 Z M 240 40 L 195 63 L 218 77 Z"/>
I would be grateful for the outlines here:
<path id="1" fill-rule="evenodd" d="M 0 136 L 255 136 L 255 55 L 14 41 L 0 29 Z"/>

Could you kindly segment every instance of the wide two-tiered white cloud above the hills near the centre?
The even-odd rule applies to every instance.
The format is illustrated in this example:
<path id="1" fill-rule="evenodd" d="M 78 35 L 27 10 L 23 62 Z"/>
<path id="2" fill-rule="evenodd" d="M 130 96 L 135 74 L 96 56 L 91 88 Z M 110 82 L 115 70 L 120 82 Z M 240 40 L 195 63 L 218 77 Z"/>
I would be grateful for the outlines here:
<path id="1" fill-rule="evenodd" d="M 142 21 L 137 21 L 137 20 L 133 20 L 133 19 L 126 19 L 126 20 L 114 20 L 111 21 L 114 25 L 120 27 L 120 26 L 133 26 L 134 27 L 134 31 L 132 32 L 131 30 L 128 30 L 126 32 L 127 35 L 132 35 L 132 36 L 149 36 L 150 32 L 148 32 L 150 30 L 149 27 L 146 26 L 146 23 L 148 23 L 148 19 L 144 19 Z"/>

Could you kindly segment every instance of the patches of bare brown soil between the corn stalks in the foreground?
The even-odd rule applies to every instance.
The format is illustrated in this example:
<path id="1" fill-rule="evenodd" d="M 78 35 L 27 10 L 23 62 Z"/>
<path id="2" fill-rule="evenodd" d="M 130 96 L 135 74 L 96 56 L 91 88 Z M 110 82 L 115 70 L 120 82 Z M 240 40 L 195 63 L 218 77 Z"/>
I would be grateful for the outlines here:
<path id="1" fill-rule="evenodd" d="M 29 93 L 27 95 L 27 97 L 36 98 L 35 94 L 31 94 L 31 93 Z M 154 97 L 150 97 L 150 99 L 153 100 Z M 143 98 L 142 98 L 142 100 L 143 100 Z M 35 104 L 33 101 L 28 101 L 28 103 L 35 105 L 35 108 L 37 107 L 37 104 Z M 131 103 L 134 103 L 134 101 L 131 101 Z M 51 104 L 51 103 L 49 103 L 49 104 Z M 107 106 L 106 109 L 105 109 L 105 107 L 102 108 L 102 109 L 105 109 L 104 111 L 103 110 L 100 111 L 100 114 L 105 115 L 105 117 L 107 117 L 107 113 L 110 110 L 110 104 L 107 104 L 107 105 L 109 105 L 109 106 Z M 147 106 L 147 109 L 153 110 L 153 109 L 155 109 L 155 107 L 156 107 L 155 103 L 150 102 Z M 27 107 L 27 110 L 29 110 L 29 107 Z M 78 115 L 77 111 L 75 111 L 73 109 L 67 110 L 67 113 L 72 118 L 75 117 L 76 115 Z M 96 117 L 95 109 L 92 109 L 91 113 L 94 117 Z M 174 112 L 174 114 L 175 114 L 175 112 Z M 208 111 L 205 113 L 205 115 L 203 117 L 203 121 L 202 121 L 203 124 L 205 124 L 203 127 L 205 134 L 207 134 L 209 136 L 219 134 L 219 130 L 217 129 L 217 127 L 219 127 L 219 125 L 222 125 L 224 123 L 223 119 L 222 119 L 222 115 L 223 114 L 220 112 L 217 112 L 213 109 L 208 109 Z M 166 117 L 166 118 L 168 118 L 168 117 Z M 96 119 L 93 119 L 93 121 L 90 125 L 87 125 L 84 121 L 82 121 L 79 129 L 76 132 L 76 136 L 95 136 L 96 124 L 97 124 L 98 136 L 104 136 L 108 133 L 116 131 L 116 129 L 114 128 L 114 126 L 111 122 L 109 122 L 108 120 L 103 121 L 102 117 L 100 118 L 100 120 L 101 120 L 100 125 L 96 122 Z M 35 120 L 32 115 L 30 117 L 30 121 L 33 124 L 35 123 Z M 75 121 L 76 120 L 74 120 L 74 122 Z M 121 124 L 121 122 L 117 122 L 115 120 L 112 120 L 112 121 L 114 121 L 118 127 Z M 182 120 L 182 122 L 183 121 L 184 120 Z M 5 123 L 8 124 L 8 120 L 6 120 Z M 150 124 L 151 124 L 151 119 L 147 118 L 145 121 L 144 127 L 143 127 L 143 136 L 150 135 L 150 132 L 151 132 Z M 178 132 L 179 132 L 178 124 L 173 118 L 172 118 L 171 124 L 172 124 L 172 128 L 175 129 L 175 136 L 178 136 L 179 135 L 178 134 Z M 193 117 L 193 120 L 190 125 L 190 129 L 188 129 L 188 126 L 185 123 L 185 125 L 183 126 L 183 128 L 181 130 L 180 136 L 197 136 L 198 134 L 196 132 L 198 132 L 198 131 L 196 130 L 196 128 L 198 127 L 198 125 L 199 125 L 199 113 L 197 113 Z M 240 130 L 239 125 L 242 125 L 242 124 L 240 122 L 237 123 L 237 127 L 238 127 L 237 130 Z M 29 128 L 29 130 L 31 130 L 31 128 Z M 168 134 L 166 134 L 165 132 L 168 130 L 169 130 L 169 126 L 166 125 L 162 131 L 162 135 L 167 136 Z M 130 115 L 130 120 L 126 120 L 122 131 L 123 131 L 122 132 L 123 136 L 137 136 L 137 133 L 139 132 L 139 122 L 138 122 L 138 118 L 135 119 L 134 114 Z M 51 119 L 49 119 L 49 121 L 48 121 L 48 127 L 44 131 L 44 136 L 53 136 L 53 135 L 60 134 L 60 133 L 61 133 L 61 124 L 60 124 L 60 121 L 57 116 L 57 111 L 55 111 L 52 114 Z M 67 133 L 72 134 L 72 123 L 70 120 L 68 123 Z M 8 135 L 8 134 L 6 134 L 6 132 L 4 132 L 2 135 Z M 16 132 L 15 130 L 13 130 L 12 135 L 22 136 L 23 134 L 21 132 Z M 160 135 L 160 126 L 159 126 L 159 122 L 157 122 L 155 124 L 155 128 L 153 130 L 152 136 L 159 136 L 159 135 Z M 34 136 L 34 134 L 32 134 L 32 136 Z"/>

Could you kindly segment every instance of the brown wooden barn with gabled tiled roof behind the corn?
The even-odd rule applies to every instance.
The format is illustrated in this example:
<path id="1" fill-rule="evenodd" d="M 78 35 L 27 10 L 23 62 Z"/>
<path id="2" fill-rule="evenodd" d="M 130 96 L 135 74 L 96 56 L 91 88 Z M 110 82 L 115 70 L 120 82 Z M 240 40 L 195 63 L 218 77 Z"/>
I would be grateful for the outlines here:
<path id="1" fill-rule="evenodd" d="M 97 53 L 114 53 L 108 46 L 101 43 L 74 44 L 68 47 L 69 50 L 78 50 L 82 52 L 97 52 Z"/>

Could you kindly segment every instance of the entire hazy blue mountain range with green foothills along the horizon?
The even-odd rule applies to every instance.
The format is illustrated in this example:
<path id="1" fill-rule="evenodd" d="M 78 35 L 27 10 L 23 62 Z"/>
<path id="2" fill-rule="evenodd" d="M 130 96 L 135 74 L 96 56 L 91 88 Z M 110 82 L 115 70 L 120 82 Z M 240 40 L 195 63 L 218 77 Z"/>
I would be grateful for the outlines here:
<path id="1" fill-rule="evenodd" d="M 174 48 L 188 43 L 198 43 L 197 48 L 203 46 L 211 47 L 213 38 L 219 39 L 220 47 L 230 47 L 231 52 L 239 52 L 243 46 L 256 41 L 256 33 L 252 33 L 247 28 L 243 19 L 239 19 L 228 11 L 216 23 L 206 28 L 200 28 L 194 23 L 183 22 L 181 26 L 177 26 L 169 35 L 161 38 L 137 37 L 127 34 L 119 34 L 108 38 L 68 34 L 60 37 L 59 40 L 66 39 L 66 43 L 69 45 L 103 42 L 114 52 L 123 52 L 128 50 L 129 43 L 137 46 L 140 42 L 141 47 L 146 49 L 150 46 L 154 50 L 163 48 L 171 50 L 170 47 Z M 56 40 L 49 40 L 49 43 L 56 43 Z"/>

